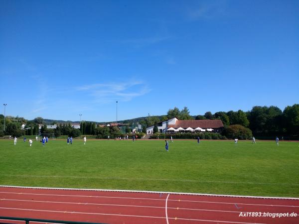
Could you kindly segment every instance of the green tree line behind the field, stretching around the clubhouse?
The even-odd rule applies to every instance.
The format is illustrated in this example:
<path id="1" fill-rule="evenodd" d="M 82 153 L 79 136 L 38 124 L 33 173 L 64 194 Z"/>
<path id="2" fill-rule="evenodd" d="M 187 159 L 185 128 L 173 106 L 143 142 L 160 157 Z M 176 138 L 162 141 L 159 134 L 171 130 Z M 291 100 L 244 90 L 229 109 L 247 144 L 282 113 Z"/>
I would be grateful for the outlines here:
<path id="1" fill-rule="evenodd" d="M 276 106 L 255 106 L 251 111 L 244 112 L 242 110 L 229 112 L 205 112 L 204 115 L 191 116 L 187 107 L 182 110 L 178 108 L 169 109 L 166 115 L 151 116 L 140 120 L 143 126 L 143 132 L 146 127 L 157 125 L 159 122 L 171 117 L 179 119 L 221 119 L 224 125 L 224 132 L 228 136 L 233 136 L 234 131 L 238 133 L 246 133 L 249 136 L 252 132 L 254 136 L 295 136 L 299 137 L 299 104 L 288 106 L 282 111 Z M 21 125 L 25 124 L 25 128 L 21 129 Z M 4 116 L 0 114 L 0 136 L 3 135 L 36 135 L 39 131 L 38 124 L 44 124 L 42 117 L 36 117 L 33 120 L 26 120 L 23 117 L 5 117 L 5 132 L 3 131 Z M 54 123 L 53 123 L 54 124 Z M 236 126 L 237 125 L 237 126 Z M 239 126 L 238 126 L 239 125 Z M 129 125 L 130 126 L 130 125 Z M 244 129 L 245 128 L 245 129 Z M 157 130 L 157 128 L 156 128 Z M 130 133 L 130 127 L 126 128 L 126 132 Z M 42 126 L 41 133 L 54 133 L 59 135 L 119 135 L 120 130 L 117 127 L 107 127 L 97 125 L 96 122 L 82 121 L 80 129 L 75 129 L 70 123 L 58 124 L 56 129 L 46 129 Z"/>

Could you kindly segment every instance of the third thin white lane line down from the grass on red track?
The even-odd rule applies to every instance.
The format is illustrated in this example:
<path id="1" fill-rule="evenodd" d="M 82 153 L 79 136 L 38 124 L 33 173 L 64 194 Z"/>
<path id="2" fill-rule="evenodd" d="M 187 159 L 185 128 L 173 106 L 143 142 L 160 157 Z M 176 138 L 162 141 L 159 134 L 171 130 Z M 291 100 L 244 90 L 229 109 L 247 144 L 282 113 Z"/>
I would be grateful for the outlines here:
<path id="1" fill-rule="evenodd" d="M 106 214 L 106 213 L 81 213 L 81 212 L 66 212 L 66 211 L 51 211 L 51 210 L 37 210 L 37 209 L 16 209 L 16 208 L 2 208 L 7 210 L 21 210 L 21 211 L 35 211 L 35 212 L 50 212 L 50 213 L 70 213 L 70 214 L 85 214 L 85 215 L 102 215 L 102 216 L 124 216 L 124 217 L 139 217 L 139 218 L 153 218 L 153 219 L 165 219 L 165 217 L 156 216 L 135 216 L 135 215 L 121 215 L 121 214 Z M 243 223 L 243 222 L 229 222 L 229 221 L 217 221 L 217 220 L 196 220 L 196 219 L 181 219 L 181 218 L 168 218 L 171 220 L 186 220 L 186 221 L 201 221 L 201 222 L 214 222 L 214 223 L 238 223 L 238 224 L 257 224 L 257 223 Z M 263 223 L 259 223 L 263 224 Z"/>

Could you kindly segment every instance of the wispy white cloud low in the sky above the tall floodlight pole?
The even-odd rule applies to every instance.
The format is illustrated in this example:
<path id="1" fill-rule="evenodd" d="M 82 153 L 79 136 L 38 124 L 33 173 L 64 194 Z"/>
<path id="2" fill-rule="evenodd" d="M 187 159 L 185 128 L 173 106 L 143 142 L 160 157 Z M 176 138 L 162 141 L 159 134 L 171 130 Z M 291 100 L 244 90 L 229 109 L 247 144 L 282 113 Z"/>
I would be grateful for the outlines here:
<path id="1" fill-rule="evenodd" d="M 149 87 L 140 81 L 128 83 L 98 83 L 77 87 L 93 97 L 95 103 L 110 103 L 115 100 L 131 101 L 150 92 Z"/>

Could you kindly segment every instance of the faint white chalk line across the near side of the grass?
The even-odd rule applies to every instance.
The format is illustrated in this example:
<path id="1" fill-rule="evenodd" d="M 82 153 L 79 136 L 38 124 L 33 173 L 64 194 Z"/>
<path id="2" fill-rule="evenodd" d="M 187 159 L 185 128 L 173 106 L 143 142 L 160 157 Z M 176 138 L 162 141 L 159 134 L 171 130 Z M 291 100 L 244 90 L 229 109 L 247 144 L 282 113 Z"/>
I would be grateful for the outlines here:
<path id="1" fill-rule="evenodd" d="M 41 176 L 41 175 L 9 175 L 0 174 L 0 176 L 9 177 L 38 177 L 38 178 L 81 178 L 81 179 L 104 179 L 104 180 L 143 180 L 143 181 L 179 181 L 179 182 L 198 182 L 198 183 L 221 183 L 221 184 L 258 184 L 258 185 L 291 185 L 292 183 L 259 183 L 259 182 L 234 182 L 234 181 L 208 181 L 208 180 L 179 180 L 179 179 L 154 179 L 154 178 L 127 178 L 127 177 L 80 177 L 80 176 Z"/>

